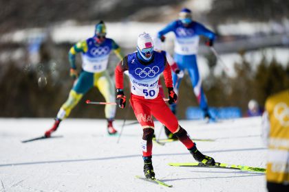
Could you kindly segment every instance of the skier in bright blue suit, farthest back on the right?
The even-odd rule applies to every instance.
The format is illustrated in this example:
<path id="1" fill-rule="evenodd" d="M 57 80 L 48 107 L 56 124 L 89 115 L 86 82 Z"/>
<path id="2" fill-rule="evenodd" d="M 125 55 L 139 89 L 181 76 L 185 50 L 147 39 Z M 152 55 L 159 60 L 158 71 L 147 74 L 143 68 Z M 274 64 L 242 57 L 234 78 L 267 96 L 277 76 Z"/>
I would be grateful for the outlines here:
<path id="1" fill-rule="evenodd" d="M 197 69 L 196 58 L 200 36 L 206 36 L 206 38 L 208 38 L 206 45 L 213 46 L 215 34 L 204 27 L 204 25 L 193 21 L 191 10 L 187 8 L 181 10 L 178 20 L 169 23 L 167 27 L 164 27 L 164 29 L 158 32 L 158 38 L 164 42 L 164 35 L 169 32 L 175 34 L 175 62 L 177 62 L 180 70 L 188 71 L 197 102 L 204 111 L 204 118 L 213 120 L 208 112 L 208 103 L 202 89 L 202 80 Z M 181 80 L 177 74 L 173 73 L 173 84 L 177 93 Z M 171 110 L 174 114 L 176 113 L 176 104 L 171 106 Z"/>

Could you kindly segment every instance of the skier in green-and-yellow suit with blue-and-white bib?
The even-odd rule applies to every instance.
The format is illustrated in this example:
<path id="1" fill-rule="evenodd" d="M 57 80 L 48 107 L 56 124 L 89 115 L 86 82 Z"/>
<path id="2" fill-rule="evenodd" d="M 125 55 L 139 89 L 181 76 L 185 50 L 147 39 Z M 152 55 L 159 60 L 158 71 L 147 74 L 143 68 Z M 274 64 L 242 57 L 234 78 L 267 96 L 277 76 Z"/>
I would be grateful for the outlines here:
<path id="1" fill-rule="evenodd" d="M 100 93 L 107 102 L 115 102 L 114 83 L 109 77 L 107 64 L 109 53 L 114 50 L 116 56 L 122 60 L 120 47 L 111 38 L 106 38 L 106 27 L 103 21 L 96 24 L 95 33 L 92 38 L 87 38 L 76 43 L 69 50 L 70 75 L 76 80 L 69 97 L 57 113 L 54 124 L 50 130 L 45 132 L 45 137 L 50 137 L 55 132 L 63 119 L 69 116 L 71 110 L 78 104 L 83 95 L 93 86 L 98 87 Z M 81 53 L 82 70 L 78 75 L 76 71 L 76 53 Z M 116 106 L 105 106 L 105 117 L 107 118 L 107 132 L 116 134 L 112 125 L 116 114 Z"/>

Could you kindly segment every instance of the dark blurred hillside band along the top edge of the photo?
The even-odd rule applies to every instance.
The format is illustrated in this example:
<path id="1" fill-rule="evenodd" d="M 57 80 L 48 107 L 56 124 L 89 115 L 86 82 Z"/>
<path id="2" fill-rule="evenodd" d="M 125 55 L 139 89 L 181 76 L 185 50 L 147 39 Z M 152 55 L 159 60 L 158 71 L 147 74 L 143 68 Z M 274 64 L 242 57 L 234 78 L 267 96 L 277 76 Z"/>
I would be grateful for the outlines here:
<path id="1" fill-rule="evenodd" d="M 0 0 L 0 33 L 29 27 L 50 27 L 76 21 L 166 21 L 177 16 L 185 0 Z M 140 6 L 141 5 L 141 6 Z M 204 14 L 211 24 L 236 21 L 281 21 L 288 18 L 288 0 L 215 0 Z M 193 10 L 193 7 L 191 7 Z"/>

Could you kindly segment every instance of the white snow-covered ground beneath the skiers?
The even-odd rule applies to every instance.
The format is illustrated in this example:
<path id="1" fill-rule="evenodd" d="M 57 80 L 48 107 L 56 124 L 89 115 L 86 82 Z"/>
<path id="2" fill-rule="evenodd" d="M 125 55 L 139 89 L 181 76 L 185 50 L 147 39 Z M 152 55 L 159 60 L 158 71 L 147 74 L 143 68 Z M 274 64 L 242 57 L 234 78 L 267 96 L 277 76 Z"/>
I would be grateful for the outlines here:
<path id="1" fill-rule="evenodd" d="M 133 121 L 127 121 L 130 123 Z M 120 142 L 108 136 L 104 119 L 67 119 L 52 139 L 21 143 L 41 136 L 52 119 L 0 119 L 0 191 L 266 191 L 264 173 L 228 169 L 169 167 L 195 162 L 180 142 L 153 145 L 156 177 L 173 184 L 161 187 L 142 176 L 140 125 L 125 126 Z M 116 120 L 120 130 L 122 120 Z M 205 124 L 180 121 L 198 149 L 216 161 L 266 167 L 261 119 L 246 118 Z M 164 131 L 156 122 L 156 136 Z"/>

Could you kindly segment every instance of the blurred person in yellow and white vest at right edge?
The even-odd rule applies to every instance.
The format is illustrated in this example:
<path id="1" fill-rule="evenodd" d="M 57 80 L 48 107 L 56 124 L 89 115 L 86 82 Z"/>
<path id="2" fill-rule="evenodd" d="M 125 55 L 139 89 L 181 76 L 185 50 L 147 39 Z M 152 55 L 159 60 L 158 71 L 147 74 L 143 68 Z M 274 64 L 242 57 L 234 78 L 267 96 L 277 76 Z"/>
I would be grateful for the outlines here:
<path id="1" fill-rule="evenodd" d="M 268 97 L 262 119 L 268 143 L 268 191 L 289 191 L 289 89 Z"/>

